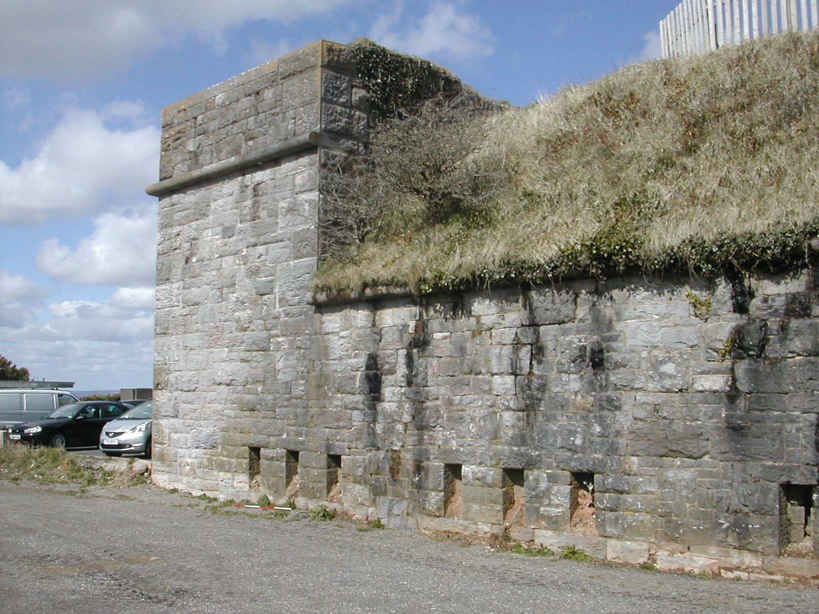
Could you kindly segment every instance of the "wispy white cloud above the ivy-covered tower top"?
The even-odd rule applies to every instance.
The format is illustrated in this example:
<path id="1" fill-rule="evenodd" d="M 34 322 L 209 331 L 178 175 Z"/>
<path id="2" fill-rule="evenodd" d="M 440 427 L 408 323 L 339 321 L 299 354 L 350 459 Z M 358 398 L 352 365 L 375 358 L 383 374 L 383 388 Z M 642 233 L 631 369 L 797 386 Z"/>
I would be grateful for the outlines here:
<path id="1" fill-rule="evenodd" d="M 369 33 L 377 43 L 418 56 L 446 56 L 469 60 L 495 52 L 491 30 L 477 16 L 460 10 L 460 2 L 428 4 L 418 25 L 405 25 L 404 2 L 383 14 Z"/>

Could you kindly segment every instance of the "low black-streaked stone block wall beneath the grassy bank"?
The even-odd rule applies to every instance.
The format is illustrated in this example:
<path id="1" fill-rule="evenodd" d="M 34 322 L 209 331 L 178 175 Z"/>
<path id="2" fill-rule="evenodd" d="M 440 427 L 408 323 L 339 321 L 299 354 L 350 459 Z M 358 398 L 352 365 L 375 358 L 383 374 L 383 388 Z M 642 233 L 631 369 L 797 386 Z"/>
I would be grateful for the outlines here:
<path id="1" fill-rule="evenodd" d="M 391 526 L 816 575 L 816 305 L 811 272 L 324 305 L 298 443 Z"/>

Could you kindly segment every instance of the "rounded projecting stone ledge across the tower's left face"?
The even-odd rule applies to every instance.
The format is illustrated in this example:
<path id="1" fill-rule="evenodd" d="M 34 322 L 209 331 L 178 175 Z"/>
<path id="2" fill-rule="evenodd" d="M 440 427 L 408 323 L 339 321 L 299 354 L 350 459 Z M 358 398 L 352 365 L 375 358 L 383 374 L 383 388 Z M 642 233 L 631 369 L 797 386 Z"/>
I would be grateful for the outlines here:
<path id="1" fill-rule="evenodd" d="M 319 147 L 320 139 L 321 135 L 319 131 L 311 130 L 309 133 L 299 134 L 285 141 L 269 145 L 268 147 L 262 147 L 249 154 L 233 156 L 228 160 L 222 160 L 201 169 L 192 170 L 189 173 L 175 175 L 159 183 L 153 183 L 145 188 L 145 192 L 148 196 L 165 196 L 171 192 L 179 192 L 179 190 L 185 187 L 191 187 L 192 185 L 205 182 L 209 179 L 215 179 L 225 174 L 249 169 L 253 166 L 260 166 L 272 160 L 278 160 L 285 156 L 292 156 L 301 151 Z"/>

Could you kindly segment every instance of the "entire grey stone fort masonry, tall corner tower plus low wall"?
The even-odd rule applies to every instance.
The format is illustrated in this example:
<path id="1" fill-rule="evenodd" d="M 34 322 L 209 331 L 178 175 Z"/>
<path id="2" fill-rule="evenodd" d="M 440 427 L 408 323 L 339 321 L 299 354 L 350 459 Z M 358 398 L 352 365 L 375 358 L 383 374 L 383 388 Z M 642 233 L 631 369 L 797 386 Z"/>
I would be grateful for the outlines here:
<path id="1" fill-rule="evenodd" d="M 312 296 L 366 101 L 321 41 L 165 109 L 155 481 L 819 578 L 817 273 Z"/>

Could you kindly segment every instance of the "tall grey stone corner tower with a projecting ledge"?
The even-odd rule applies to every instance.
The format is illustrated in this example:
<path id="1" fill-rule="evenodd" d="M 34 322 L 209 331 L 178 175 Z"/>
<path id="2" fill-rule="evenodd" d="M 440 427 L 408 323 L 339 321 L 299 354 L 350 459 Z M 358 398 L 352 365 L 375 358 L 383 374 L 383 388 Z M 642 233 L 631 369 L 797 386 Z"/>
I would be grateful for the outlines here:
<path id="1" fill-rule="evenodd" d="M 318 436 L 333 451 L 326 425 L 309 419 L 307 295 L 322 165 L 367 138 L 364 91 L 345 50 L 319 41 L 163 111 L 161 181 L 147 188 L 160 197 L 160 483 L 283 490 L 287 458 L 271 451 L 271 436 L 292 440 L 302 467 L 305 440 Z M 328 471 L 326 458 L 319 464 Z M 310 494 L 314 482 L 302 477 Z"/>

